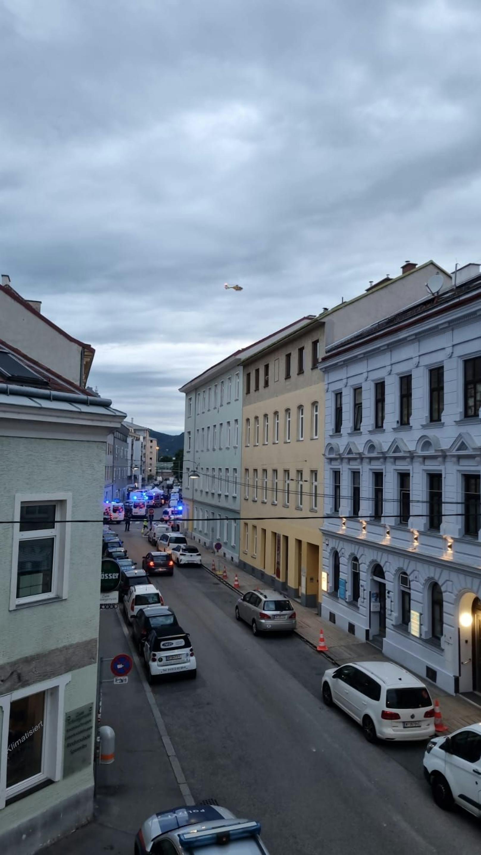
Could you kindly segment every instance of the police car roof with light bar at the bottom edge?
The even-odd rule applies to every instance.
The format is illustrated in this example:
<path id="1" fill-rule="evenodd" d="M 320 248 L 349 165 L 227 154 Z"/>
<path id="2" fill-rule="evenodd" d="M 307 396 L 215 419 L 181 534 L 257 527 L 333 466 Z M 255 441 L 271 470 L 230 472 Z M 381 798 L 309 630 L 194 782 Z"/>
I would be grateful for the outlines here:
<path id="1" fill-rule="evenodd" d="M 226 807 L 199 804 L 154 813 L 135 838 L 134 855 L 193 855 L 217 850 L 223 855 L 269 855 L 260 825 L 238 819 Z"/>

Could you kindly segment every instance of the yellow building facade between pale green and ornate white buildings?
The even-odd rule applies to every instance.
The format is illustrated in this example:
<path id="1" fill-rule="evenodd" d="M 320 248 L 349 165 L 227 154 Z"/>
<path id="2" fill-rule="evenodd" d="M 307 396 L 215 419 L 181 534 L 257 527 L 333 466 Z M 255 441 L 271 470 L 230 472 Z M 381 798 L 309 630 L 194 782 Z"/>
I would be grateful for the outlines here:
<path id="1" fill-rule="evenodd" d="M 324 324 L 243 363 L 240 566 L 302 604 L 321 599 Z"/>

